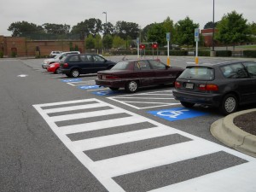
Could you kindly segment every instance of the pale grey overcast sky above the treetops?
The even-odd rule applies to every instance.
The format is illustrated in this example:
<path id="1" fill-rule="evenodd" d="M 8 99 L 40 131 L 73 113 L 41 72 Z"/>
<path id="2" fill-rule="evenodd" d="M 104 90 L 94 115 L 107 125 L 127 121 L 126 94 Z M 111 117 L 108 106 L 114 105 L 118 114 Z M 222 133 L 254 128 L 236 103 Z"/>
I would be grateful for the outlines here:
<path id="1" fill-rule="evenodd" d="M 0 35 L 9 36 L 11 23 L 27 21 L 38 26 L 44 23 L 67 24 L 96 18 L 113 25 L 118 20 L 135 22 L 141 28 L 162 22 L 169 16 L 176 23 L 189 16 L 203 28 L 212 21 L 213 0 L 0 0 Z M 248 22 L 256 22 L 256 0 L 215 0 L 215 21 L 236 10 Z"/>

